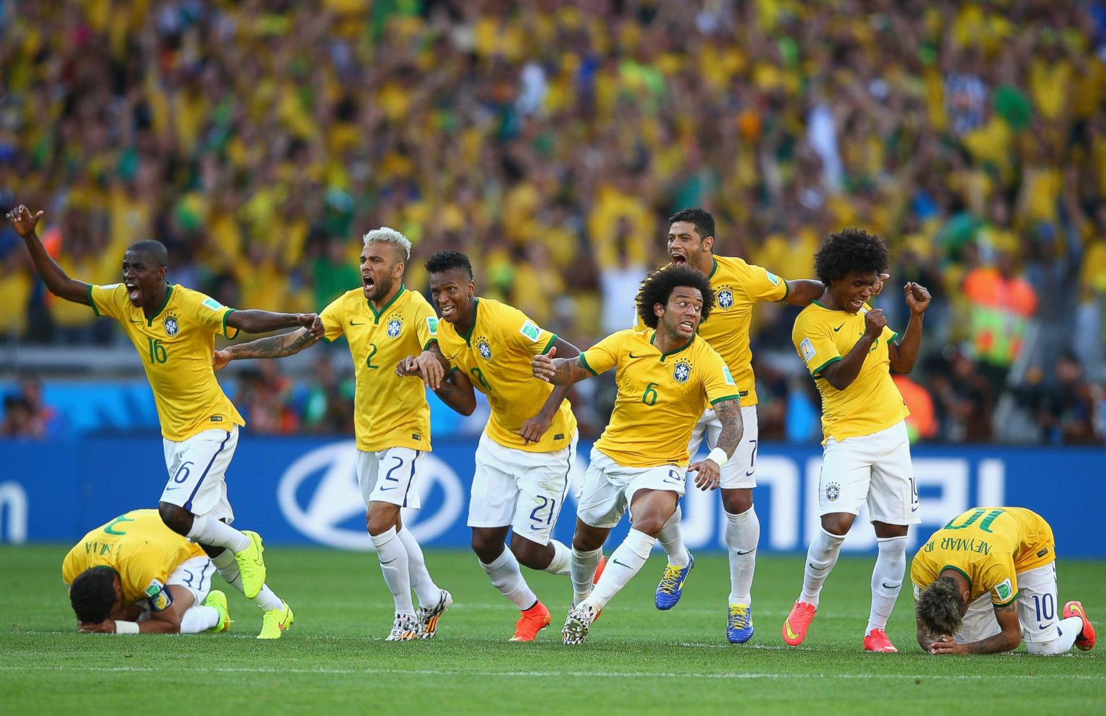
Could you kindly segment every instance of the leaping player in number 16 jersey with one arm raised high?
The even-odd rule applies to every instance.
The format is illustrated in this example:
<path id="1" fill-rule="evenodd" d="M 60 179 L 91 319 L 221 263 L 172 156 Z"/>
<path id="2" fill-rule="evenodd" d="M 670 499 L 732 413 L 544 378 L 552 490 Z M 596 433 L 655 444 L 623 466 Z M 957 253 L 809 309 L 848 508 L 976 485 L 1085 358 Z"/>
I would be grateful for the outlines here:
<path id="1" fill-rule="evenodd" d="M 267 333 L 292 326 L 322 335 L 314 314 L 234 310 L 213 298 L 169 284 L 168 254 L 157 241 L 139 241 L 123 254 L 123 282 L 96 286 L 70 278 L 50 257 L 35 225 L 43 212 L 20 206 L 8 219 L 22 236 L 46 288 L 91 306 L 123 326 L 142 357 L 161 423 L 169 481 L 158 512 L 173 531 L 204 547 L 216 569 L 264 611 L 259 639 L 279 639 L 292 610 L 265 586 L 261 537 L 230 526 L 226 472 L 244 424 L 211 369 L 216 334 Z"/>

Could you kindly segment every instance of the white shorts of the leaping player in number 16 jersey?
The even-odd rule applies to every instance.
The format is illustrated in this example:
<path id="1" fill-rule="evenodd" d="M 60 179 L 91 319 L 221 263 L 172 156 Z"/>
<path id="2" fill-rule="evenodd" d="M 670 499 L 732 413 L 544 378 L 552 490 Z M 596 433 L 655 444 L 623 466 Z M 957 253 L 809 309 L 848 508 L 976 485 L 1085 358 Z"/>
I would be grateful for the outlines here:
<path id="1" fill-rule="evenodd" d="M 238 448 L 238 425 L 230 432 L 205 430 L 184 442 L 163 440 L 169 482 L 161 502 L 184 507 L 194 515 L 209 515 L 229 525 L 234 510 L 227 501 L 227 467 Z"/>

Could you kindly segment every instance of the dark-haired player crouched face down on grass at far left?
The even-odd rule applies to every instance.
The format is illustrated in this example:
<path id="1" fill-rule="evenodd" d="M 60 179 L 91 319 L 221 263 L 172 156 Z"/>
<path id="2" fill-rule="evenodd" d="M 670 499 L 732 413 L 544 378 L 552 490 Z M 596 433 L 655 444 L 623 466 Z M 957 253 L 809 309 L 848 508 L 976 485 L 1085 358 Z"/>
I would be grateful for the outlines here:
<path id="1" fill-rule="evenodd" d="M 156 509 L 132 509 L 81 538 L 62 581 L 83 633 L 195 634 L 230 628 L 215 566 Z"/>

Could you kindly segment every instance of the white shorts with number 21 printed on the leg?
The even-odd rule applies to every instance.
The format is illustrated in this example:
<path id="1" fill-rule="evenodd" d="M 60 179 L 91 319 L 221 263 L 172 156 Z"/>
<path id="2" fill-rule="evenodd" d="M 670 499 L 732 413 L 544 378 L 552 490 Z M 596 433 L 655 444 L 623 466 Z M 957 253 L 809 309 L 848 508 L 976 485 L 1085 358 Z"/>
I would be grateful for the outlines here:
<path id="1" fill-rule="evenodd" d="M 576 460 L 576 440 L 547 453 L 504 448 L 480 435 L 472 475 L 469 527 L 511 526 L 515 535 L 547 545 L 568 493 L 568 472 Z"/>

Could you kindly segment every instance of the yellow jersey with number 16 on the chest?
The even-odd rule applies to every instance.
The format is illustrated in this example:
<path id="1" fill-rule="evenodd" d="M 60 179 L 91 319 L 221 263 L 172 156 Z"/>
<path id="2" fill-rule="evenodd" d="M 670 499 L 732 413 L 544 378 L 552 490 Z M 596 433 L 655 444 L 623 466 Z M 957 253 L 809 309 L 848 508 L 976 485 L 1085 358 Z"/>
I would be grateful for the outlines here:
<path id="1" fill-rule="evenodd" d="M 88 303 L 97 316 L 119 322 L 142 357 L 166 440 L 182 442 L 205 430 L 230 432 L 231 425 L 246 424 L 211 368 L 216 334 L 238 335 L 227 326 L 233 308 L 179 284 L 166 288 L 165 304 L 153 318 L 131 303 L 123 284 L 90 284 Z"/>

